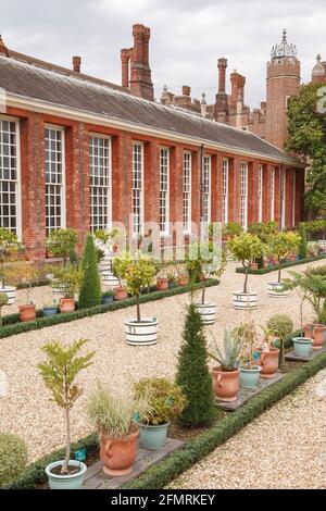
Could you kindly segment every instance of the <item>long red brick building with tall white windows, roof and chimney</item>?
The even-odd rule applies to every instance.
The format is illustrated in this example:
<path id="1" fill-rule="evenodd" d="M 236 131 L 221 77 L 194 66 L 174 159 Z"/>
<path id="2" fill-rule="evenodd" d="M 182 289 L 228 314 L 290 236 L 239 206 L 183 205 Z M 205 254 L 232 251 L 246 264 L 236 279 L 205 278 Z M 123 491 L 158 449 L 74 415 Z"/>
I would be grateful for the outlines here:
<path id="1" fill-rule="evenodd" d="M 123 86 L 9 50 L 0 42 L 0 224 L 45 256 L 47 233 L 112 222 L 143 233 L 171 223 L 302 216 L 304 169 L 258 136 L 153 101 L 150 32 L 134 26 Z M 130 222 L 131 215 L 131 222 Z"/>

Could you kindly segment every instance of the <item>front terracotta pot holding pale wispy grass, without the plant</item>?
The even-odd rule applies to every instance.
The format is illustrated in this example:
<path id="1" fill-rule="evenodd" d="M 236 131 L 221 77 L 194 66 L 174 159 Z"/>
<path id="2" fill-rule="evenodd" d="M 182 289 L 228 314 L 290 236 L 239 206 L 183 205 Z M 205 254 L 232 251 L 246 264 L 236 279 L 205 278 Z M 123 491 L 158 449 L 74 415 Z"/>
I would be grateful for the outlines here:
<path id="1" fill-rule="evenodd" d="M 133 472 L 138 436 L 139 431 L 125 438 L 110 438 L 101 435 L 100 458 L 105 474 L 118 477 Z"/>

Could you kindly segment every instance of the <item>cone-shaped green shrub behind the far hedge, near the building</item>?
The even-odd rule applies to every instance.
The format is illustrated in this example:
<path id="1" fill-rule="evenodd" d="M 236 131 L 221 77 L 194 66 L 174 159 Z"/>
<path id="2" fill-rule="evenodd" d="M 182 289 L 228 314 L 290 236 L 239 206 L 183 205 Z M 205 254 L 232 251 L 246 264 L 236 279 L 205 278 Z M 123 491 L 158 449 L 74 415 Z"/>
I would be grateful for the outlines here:
<path id="1" fill-rule="evenodd" d="M 80 267 L 83 276 L 79 308 L 88 309 L 89 307 L 99 306 L 102 301 L 101 278 L 98 269 L 98 253 L 91 234 L 86 238 Z"/>

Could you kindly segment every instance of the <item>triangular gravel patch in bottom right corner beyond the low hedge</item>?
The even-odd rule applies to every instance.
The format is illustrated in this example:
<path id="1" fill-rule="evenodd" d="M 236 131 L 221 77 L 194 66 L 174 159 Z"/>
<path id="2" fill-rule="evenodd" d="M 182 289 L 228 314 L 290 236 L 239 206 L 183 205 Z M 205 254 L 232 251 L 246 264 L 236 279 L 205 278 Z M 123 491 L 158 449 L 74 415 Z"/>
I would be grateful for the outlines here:
<path id="1" fill-rule="evenodd" d="M 170 487 L 325 489 L 325 427 L 326 370 L 250 423 Z"/>

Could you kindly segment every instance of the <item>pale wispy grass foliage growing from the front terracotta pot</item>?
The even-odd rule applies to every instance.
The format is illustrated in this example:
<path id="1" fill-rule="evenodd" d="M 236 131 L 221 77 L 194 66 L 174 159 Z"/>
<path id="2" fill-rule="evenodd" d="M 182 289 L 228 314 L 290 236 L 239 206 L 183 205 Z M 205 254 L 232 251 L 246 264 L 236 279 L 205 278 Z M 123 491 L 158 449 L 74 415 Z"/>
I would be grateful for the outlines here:
<path id="1" fill-rule="evenodd" d="M 90 421 L 100 435 L 123 438 L 135 428 L 134 415 L 148 410 L 146 398 L 131 399 L 114 396 L 101 383 L 88 398 L 87 411 Z"/>

